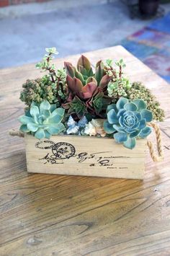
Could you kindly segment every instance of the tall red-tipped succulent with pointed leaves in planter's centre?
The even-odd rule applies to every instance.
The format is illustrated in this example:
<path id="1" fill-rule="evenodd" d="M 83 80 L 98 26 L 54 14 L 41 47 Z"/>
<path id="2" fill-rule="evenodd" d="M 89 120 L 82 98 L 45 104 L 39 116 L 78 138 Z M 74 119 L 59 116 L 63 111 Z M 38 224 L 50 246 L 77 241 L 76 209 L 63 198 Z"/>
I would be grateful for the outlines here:
<path id="1" fill-rule="evenodd" d="M 77 118 L 82 118 L 86 114 L 104 118 L 104 112 L 111 98 L 107 96 L 107 84 L 110 78 L 104 73 L 102 61 L 97 63 L 95 74 L 85 56 L 79 58 L 77 67 L 69 62 L 65 62 L 64 65 L 69 96 L 63 107 L 69 114 L 76 114 Z"/>

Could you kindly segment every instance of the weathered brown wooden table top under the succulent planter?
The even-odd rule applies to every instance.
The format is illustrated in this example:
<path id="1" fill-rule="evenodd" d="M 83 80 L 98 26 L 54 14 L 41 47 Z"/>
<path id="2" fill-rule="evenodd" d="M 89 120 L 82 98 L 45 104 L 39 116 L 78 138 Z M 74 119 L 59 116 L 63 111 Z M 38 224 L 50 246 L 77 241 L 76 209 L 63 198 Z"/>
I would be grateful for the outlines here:
<path id="1" fill-rule="evenodd" d="M 166 111 L 164 162 L 146 157 L 145 179 L 28 174 L 22 138 L 10 137 L 22 115 L 22 83 L 35 64 L 0 71 L 0 255 L 169 255 L 170 87 L 122 46 L 86 53 L 123 58 L 132 81 L 143 81 Z M 76 63 L 79 56 L 66 58 Z M 63 66 L 63 59 L 56 61 Z"/>

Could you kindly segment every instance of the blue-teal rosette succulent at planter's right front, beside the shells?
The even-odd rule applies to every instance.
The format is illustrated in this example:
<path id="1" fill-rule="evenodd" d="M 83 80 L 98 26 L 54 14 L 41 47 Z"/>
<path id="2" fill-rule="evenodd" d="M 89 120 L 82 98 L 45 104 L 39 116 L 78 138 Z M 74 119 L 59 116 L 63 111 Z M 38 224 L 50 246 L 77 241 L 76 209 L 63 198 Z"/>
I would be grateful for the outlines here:
<path id="1" fill-rule="evenodd" d="M 117 143 L 123 143 L 126 148 L 133 149 L 136 137 L 146 138 L 151 133 L 147 122 L 151 122 L 153 115 L 146 108 L 144 100 L 130 101 L 120 97 L 116 104 L 107 107 L 104 130 L 108 134 L 113 133 Z"/>

